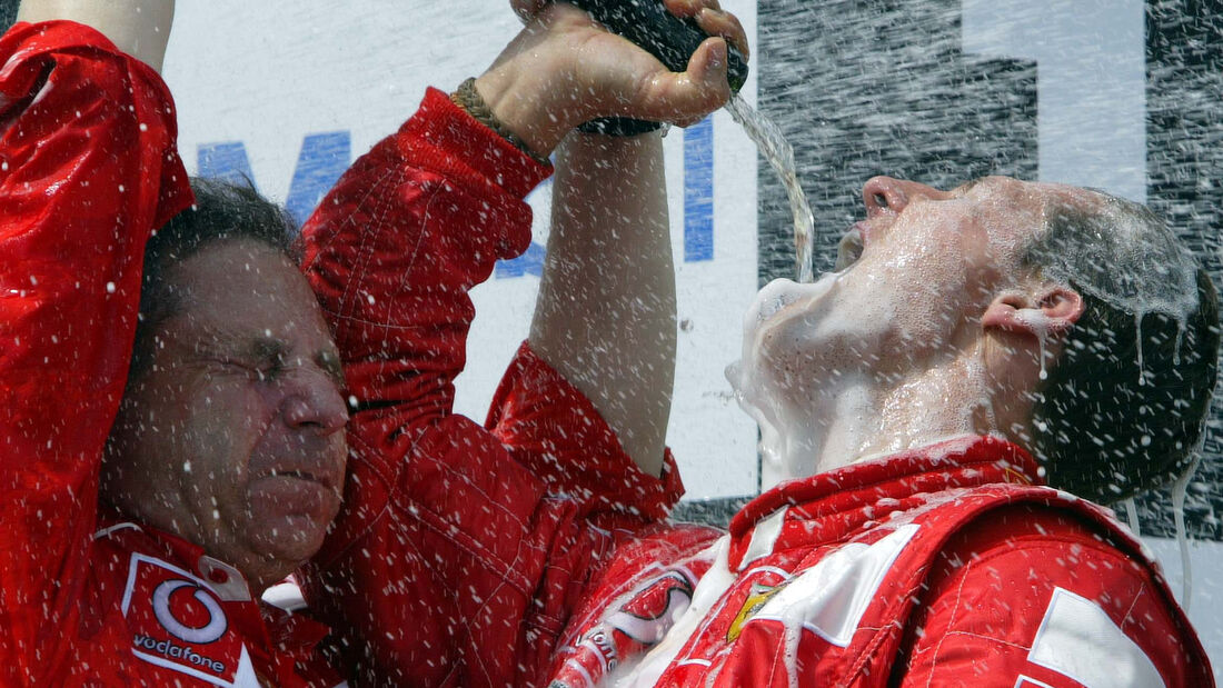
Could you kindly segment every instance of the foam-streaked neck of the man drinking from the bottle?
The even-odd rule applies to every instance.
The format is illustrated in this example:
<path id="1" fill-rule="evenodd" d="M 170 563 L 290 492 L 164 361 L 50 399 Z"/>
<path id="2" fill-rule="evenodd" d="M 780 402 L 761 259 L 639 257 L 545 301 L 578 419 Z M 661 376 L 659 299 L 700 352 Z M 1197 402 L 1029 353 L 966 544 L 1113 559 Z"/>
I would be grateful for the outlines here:
<path id="1" fill-rule="evenodd" d="M 949 436 L 998 431 L 978 360 L 972 353 L 906 375 L 845 375 L 801 415 L 773 414 L 775 429 L 761 424 L 762 483 L 768 488 Z"/>

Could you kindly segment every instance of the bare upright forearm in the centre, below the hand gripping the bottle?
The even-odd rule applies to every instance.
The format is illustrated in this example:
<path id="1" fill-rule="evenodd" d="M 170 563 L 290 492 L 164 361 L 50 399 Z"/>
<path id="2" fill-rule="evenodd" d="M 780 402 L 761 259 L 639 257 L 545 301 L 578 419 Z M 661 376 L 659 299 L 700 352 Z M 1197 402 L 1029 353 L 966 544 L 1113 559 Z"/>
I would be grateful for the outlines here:
<path id="1" fill-rule="evenodd" d="M 658 475 L 675 368 L 658 134 L 572 134 L 559 149 L 531 345 L 586 393 L 637 466 Z"/>

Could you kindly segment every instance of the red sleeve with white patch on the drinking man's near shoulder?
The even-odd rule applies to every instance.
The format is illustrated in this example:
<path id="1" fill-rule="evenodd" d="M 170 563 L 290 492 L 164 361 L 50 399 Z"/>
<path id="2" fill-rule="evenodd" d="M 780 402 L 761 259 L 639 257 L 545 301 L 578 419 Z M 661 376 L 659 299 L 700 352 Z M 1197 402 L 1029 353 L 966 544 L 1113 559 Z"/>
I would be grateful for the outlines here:
<path id="1" fill-rule="evenodd" d="M 1030 507 L 961 532 L 909 624 L 898 686 L 1213 686 L 1205 650 L 1137 556 Z"/>

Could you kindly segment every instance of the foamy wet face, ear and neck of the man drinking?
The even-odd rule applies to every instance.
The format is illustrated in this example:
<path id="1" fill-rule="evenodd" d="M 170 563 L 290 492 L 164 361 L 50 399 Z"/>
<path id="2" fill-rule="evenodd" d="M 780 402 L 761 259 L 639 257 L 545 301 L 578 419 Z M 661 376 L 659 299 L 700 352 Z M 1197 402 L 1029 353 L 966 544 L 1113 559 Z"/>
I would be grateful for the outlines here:
<path id="1" fill-rule="evenodd" d="M 866 219 L 841 242 L 840 271 L 772 282 L 745 320 L 730 375 L 761 422 L 766 464 L 777 458 L 774 479 L 939 436 L 1008 433 L 1031 408 L 1044 343 L 1035 330 L 1077 317 L 1077 295 L 1022 259 L 1052 202 L 1095 203 L 1093 192 L 874 177 L 862 197 Z"/>

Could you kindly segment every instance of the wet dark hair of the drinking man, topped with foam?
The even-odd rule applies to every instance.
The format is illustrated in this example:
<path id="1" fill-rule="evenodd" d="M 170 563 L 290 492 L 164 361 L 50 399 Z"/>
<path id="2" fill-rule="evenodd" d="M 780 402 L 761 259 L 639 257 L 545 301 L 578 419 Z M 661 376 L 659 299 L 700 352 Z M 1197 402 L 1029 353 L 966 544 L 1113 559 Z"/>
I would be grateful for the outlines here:
<path id="1" fill-rule="evenodd" d="M 1037 393 L 1031 445 L 1049 485 L 1109 503 L 1194 464 L 1218 364 L 1218 295 L 1159 218 L 1101 194 L 1059 203 L 1026 252 L 1082 315 Z"/>

